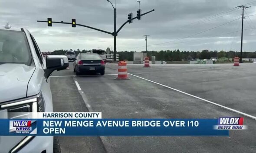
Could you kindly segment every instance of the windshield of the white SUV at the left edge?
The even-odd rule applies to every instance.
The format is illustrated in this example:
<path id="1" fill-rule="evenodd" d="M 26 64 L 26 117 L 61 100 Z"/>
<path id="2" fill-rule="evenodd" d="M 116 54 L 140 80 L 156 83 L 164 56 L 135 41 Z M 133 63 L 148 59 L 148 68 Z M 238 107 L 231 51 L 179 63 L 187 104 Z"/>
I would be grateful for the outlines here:
<path id="1" fill-rule="evenodd" d="M 24 32 L 0 30 L 0 64 L 31 64 L 31 54 Z"/>

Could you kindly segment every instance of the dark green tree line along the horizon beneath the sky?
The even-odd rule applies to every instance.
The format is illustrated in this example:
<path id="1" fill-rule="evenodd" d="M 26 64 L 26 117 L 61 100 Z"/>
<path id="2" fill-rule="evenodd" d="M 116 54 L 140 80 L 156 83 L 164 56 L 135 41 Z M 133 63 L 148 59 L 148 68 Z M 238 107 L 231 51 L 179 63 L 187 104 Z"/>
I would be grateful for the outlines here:
<path id="1" fill-rule="evenodd" d="M 87 51 L 91 50 L 55 50 L 53 52 L 44 52 L 43 54 L 51 54 L 51 55 L 63 55 L 66 51 L 74 51 L 75 54 L 79 53 L 86 53 Z M 119 60 L 127 60 L 133 61 L 133 53 L 136 51 L 118 51 Z M 191 59 L 191 58 L 200 58 L 200 59 L 210 59 L 211 57 L 226 57 L 226 58 L 233 58 L 233 57 L 240 57 L 240 52 L 237 51 L 180 51 L 179 49 L 174 51 L 144 51 L 147 53 L 147 56 L 155 56 L 156 61 L 182 61 L 184 59 Z M 113 52 L 112 52 L 113 53 Z M 243 52 L 243 58 L 256 58 L 256 51 L 255 52 Z"/>

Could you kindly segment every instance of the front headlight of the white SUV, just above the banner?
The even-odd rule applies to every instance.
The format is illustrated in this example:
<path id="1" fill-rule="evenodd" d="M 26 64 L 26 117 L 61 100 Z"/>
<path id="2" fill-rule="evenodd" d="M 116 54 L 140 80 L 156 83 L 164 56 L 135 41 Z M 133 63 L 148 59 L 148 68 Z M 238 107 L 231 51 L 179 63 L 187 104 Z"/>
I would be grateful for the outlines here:
<path id="1" fill-rule="evenodd" d="M 33 113 L 44 111 L 45 102 L 41 93 L 28 99 L 0 104 L 0 116 L 4 118 L 33 118 Z"/>

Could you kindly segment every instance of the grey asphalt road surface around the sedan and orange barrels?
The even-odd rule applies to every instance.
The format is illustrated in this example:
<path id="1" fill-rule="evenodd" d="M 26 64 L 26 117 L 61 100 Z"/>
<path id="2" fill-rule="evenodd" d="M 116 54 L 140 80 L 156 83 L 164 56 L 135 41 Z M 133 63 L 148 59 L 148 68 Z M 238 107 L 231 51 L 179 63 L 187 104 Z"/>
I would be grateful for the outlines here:
<path id="1" fill-rule="evenodd" d="M 172 64 L 143 68 L 134 64 L 128 65 L 128 73 L 255 116 L 255 67 Z M 103 118 L 241 116 L 249 129 L 230 131 L 230 137 L 59 137 L 63 153 L 256 152 L 256 120 L 132 75 L 131 80 L 114 80 L 116 69 L 117 64 L 107 64 L 105 76 L 72 77 L 70 63 L 69 70 L 54 72 L 50 79 L 54 111 L 102 112 Z"/>

